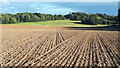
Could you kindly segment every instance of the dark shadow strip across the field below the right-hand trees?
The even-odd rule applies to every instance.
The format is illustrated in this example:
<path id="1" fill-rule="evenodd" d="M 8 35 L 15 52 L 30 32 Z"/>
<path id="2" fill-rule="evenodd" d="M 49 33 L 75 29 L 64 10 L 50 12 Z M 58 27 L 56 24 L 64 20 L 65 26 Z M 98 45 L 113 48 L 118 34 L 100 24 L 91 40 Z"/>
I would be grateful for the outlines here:
<path id="1" fill-rule="evenodd" d="M 118 26 L 102 26 L 102 27 L 65 27 L 68 30 L 100 30 L 100 31 L 120 31 Z"/>

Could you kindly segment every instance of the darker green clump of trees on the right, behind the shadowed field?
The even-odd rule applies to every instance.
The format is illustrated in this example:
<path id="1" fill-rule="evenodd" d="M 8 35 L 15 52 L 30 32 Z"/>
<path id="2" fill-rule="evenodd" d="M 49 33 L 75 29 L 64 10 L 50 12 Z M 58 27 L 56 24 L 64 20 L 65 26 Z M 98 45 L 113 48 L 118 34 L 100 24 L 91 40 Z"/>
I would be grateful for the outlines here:
<path id="1" fill-rule="evenodd" d="M 80 20 L 82 24 L 117 24 L 117 16 L 110 16 L 106 14 L 86 14 L 86 13 L 71 13 L 65 15 L 65 18 L 70 20 Z"/>

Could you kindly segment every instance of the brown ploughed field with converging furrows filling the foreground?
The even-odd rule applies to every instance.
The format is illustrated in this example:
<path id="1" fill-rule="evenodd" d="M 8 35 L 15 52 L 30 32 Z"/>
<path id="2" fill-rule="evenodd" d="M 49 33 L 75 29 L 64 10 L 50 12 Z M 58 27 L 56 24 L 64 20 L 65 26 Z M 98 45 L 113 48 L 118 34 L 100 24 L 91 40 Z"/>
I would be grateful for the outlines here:
<path id="1" fill-rule="evenodd" d="M 23 27 L 3 26 L 2 65 L 119 66 L 118 31 Z"/>

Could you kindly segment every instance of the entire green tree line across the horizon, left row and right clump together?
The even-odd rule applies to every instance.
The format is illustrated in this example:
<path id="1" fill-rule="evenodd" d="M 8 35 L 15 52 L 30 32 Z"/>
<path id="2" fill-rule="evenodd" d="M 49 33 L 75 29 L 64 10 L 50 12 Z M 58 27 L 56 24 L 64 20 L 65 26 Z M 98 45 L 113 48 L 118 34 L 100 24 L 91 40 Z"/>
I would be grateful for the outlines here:
<path id="1" fill-rule="evenodd" d="M 0 14 L 2 24 L 13 24 L 21 22 L 39 22 L 48 20 L 77 20 L 81 24 L 117 24 L 120 18 L 120 10 L 118 16 L 111 16 L 106 14 L 86 14 L 82 12 L 73 12 L 67 15 L 51 15 L 42 13 L 17 13 L 17 14 Z"/>

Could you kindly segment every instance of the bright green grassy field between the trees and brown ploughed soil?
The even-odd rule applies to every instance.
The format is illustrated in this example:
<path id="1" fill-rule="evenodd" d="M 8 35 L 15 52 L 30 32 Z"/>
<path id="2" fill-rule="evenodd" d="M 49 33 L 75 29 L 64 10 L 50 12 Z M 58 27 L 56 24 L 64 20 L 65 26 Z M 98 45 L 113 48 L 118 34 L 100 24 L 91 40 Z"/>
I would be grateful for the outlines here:
<path id="1" fill-rule="evenodd" d="M 54 20 L 54 21 L 41 21 L 41 22 L 20 22 L 15 24 L 4 24 L 4 25 L 48 25 L 48 26 L 73 26 L 73 27 L 100 27 L 106 25 L 86 25 L 79 24 L 80 21 L 70 20 Z"/>

